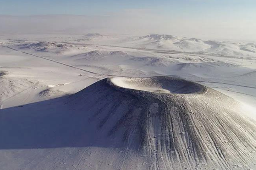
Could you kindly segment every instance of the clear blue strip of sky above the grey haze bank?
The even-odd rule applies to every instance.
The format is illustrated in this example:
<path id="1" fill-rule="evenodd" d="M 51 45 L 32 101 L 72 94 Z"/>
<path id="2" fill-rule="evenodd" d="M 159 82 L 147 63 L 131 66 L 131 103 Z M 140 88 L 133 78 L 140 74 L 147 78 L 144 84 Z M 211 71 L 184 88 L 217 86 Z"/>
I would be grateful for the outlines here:
<path id="1" fill-rule="evenodd" d="M 192 15 L 190 17 L 202 12 L 256 17 L 256 0 L 0 0 L 0 4 L 0 14 L 10 15 L 104 15 L 125 9 L 151 9 L 166 15 Z"/>

